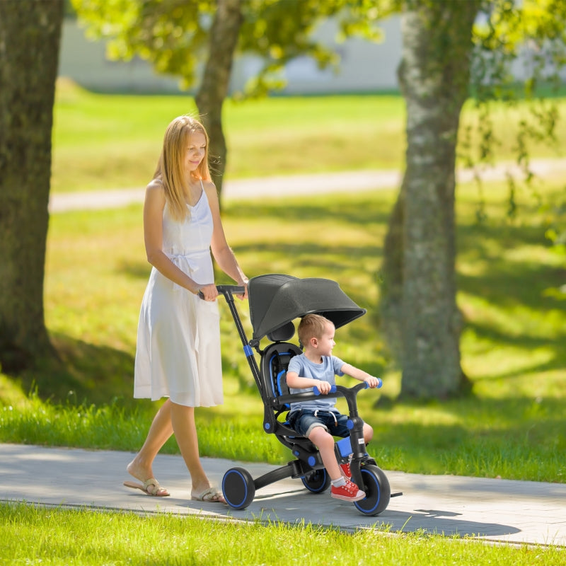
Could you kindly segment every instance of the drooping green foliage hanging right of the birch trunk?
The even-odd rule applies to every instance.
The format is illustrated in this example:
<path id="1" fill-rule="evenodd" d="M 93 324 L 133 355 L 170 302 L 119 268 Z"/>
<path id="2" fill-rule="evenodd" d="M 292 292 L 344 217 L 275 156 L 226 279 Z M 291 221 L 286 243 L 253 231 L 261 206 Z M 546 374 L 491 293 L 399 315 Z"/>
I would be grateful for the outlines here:
<path id="1" fill-rule="evenodd" d="M 485 2 L 483 16 L 474 28 L 472 91 L 483 115 L 478 162 L 492 162 L 499 143 L 490 121 L 494 100 L 515 105 L 529 101 L 516 134 L 515 159 L 529 175 L 529 140 L 556 143 L 558 108 L 551 92 L 562 85 L 566 64 L 566 1 L 508 0 Z M 503 132 L 501 133 L 503 135 Z"/>

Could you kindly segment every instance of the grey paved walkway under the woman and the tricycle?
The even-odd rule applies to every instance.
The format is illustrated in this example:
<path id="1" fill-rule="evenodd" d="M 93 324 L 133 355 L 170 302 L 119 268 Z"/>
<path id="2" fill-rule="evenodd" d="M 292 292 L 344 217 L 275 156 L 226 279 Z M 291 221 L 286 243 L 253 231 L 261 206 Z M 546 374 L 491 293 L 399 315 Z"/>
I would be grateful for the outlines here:
<path id="1" fill-rule="evenodd" d="M 64 507 L 126 509 L 142 513 L 197 514 L 243 521 L 286 522 L 390 532 L 438 533 L 483 541 L 566 547 L 566 484 L 416 475 L 386 472 L 393 497 L 376 517 L 353 504 L 314 495 L 301 480 L 282 480 L 256 492 L 247 509 L 191 501 L 180 456 L 159 455 L 154 473 L 171 497 L 129 490 L 125 466 L 132 454 L 118 451 L 45 448 L 0 444 L 0 500 Z M 276 466 L 203 458 L 209 478 L 221 485 L 224 472 L 246 468 L 254 478 Z"/>

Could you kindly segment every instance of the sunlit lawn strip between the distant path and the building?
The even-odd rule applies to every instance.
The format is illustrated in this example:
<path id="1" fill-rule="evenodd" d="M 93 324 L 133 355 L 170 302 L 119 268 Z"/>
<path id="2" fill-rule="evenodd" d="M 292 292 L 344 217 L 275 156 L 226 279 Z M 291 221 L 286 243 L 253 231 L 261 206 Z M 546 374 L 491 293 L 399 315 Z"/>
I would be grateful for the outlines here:
<path id="1" fill-rule="evenodd" d="M 565 101 L 555 102 L 563 110 Z M 53 192 L 145 187 L 168 123 L 196 115 L 190 96 L 123 96 L 88 93 L 59 81 L 54 108 Z M 563 112 L 562 112 L 563 113 Z M 497 159 L 512 157 L 514 123 L 528 116 L 493 105 Z M 226 178 L 294 173 L 399 169 L 405 162 L 405 103 L 395 95 L 278 97 L 234 102 L 223 112 L 228 146 Z M 461 132 L 480 118 L 467 103 Z M 464 134 L 462 133 L 462 138 Z M 473 134 L 471 139 L 478 140 Z M 558 128 L 555 148 L 566 146 Z M 536 143 L 531 156 L 560 156 Z M 458 150 L 465 151 L 464 140 Z"/>

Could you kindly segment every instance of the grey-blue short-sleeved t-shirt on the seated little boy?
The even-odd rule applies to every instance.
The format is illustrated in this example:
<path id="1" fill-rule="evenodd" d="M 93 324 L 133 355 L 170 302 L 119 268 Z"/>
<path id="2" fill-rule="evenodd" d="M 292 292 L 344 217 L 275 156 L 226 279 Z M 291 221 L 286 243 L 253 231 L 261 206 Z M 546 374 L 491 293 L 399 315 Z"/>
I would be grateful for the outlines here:
<path id="1" fill-rule="evenodd" d="M 341 369 L 345 362 L 336 356 L 323 356 L 321 364 L 315 364 L 306 357 L 305 354 L 299 354 L 291 358 L 287 371 L 294 371 L 299 377 L 308 377 L 310 379 L 318 379 L 320 381 L 328 381 L 331 385 L 336 384 L 335 376 L 343 376 Z M 313 391 L 312 387 L 306 389 L 297 389 L 289 387 L 290 393 L 305 393 Z M 299 409 L 308 410 L 333 410 L 339 412 L 336 408 L 335 397 L 320 397 L 312 401 L 299 401 L 291 403 L 291 412 Z"/>

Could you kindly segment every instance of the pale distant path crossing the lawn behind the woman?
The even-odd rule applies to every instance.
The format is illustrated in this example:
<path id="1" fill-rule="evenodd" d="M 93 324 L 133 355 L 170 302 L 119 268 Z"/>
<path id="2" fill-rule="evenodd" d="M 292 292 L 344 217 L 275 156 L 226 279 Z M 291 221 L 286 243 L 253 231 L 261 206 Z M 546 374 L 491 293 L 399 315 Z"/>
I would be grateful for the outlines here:
<path id="1" fill-rule="evenodd" d="M 540 178 L 566 173 L 566 160 L 539 159 L 531 163 L 531 170 Z M 487 182 L 502 180 L 507 173 L 520 177 L 519 169 L 509 163 L 487 169 L 481 178 Z M 325 192 L 355 192 L 363 190 L 391 189 L 400 187 L 399 171 L 343 171 L 312 175 L 291 175 L 263 179 L 226 180 L 222 189 L 224 200 L 250 197 L 283 197 L 291 195 L 317 195 Z M 473 180 L 471 171 L 460 171 L 458 181 Z M 51 195 L 50 212 L 66 212 L 76 209 L 105 209 L 126 206 L 144 201 L 144 188 L 98 190 L 91 192 L 58 193 Z"/>

